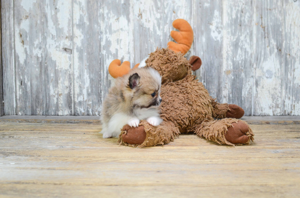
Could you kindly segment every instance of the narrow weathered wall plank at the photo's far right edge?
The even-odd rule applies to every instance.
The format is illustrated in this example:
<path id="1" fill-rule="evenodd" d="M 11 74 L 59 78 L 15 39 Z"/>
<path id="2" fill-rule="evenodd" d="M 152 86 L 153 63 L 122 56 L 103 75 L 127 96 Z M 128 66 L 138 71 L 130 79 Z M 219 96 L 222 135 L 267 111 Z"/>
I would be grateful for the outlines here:
<path id="1" fill-rule="evenodd" d="M 284 1 L 283 115 L 300 115 L 300 1 Z"/>

